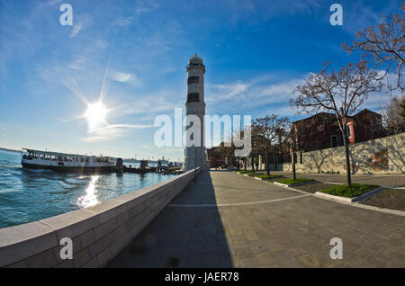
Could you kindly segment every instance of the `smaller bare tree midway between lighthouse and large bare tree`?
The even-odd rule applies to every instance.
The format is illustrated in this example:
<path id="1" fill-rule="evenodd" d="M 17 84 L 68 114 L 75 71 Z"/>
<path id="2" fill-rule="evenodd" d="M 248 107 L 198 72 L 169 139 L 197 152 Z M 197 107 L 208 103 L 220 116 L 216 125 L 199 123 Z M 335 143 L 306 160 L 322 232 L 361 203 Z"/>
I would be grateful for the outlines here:
<path id="1" fill-rule="evenodd" d="M 267 115 L 252 122 L 252 139 L 266 154 L 266 174 L 270 174 L 269 153 L 279 140 L 281 130 L 286 130 L 288 119 L 277 114 Z"/>

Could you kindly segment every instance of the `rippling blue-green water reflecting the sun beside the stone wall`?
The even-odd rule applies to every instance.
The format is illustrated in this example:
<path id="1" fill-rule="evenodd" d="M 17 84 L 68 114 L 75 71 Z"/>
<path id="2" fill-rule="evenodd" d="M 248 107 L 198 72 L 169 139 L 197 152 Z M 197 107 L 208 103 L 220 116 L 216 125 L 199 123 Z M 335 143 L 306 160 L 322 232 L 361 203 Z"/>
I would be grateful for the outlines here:
<path id="1" fill-rule="evenodd" d="M 0 228 L 90 207 L 173 176 L 27 170 L 21 166 L 19 153 L 0 150 Z"/>

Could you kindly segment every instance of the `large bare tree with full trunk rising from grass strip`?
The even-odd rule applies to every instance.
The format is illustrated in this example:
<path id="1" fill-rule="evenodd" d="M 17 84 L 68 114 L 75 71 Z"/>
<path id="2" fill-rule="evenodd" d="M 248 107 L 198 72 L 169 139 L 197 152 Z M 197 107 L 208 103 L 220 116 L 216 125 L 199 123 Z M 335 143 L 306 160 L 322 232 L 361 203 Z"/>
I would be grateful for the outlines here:
<path id="1" fill-rule="evenodd" d="M 375 79 L 365 60 L 341 67 L 338 72 L 325 64 L 319 73 L 312 73 L 294 93 L 299 94 L 290 103 L 308 113 L 332 112 L 336 115 L 346 151 L 347 184 L 351 186 L 350 153 L 347 121 L 365 102 L 368 94 L 381 90 L 381 82 Z"/>

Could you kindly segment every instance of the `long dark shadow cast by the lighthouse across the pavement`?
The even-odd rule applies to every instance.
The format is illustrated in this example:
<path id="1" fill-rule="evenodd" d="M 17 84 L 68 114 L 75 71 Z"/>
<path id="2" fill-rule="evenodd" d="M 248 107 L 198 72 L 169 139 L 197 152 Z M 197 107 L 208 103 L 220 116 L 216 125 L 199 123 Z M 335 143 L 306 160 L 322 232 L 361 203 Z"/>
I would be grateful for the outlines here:
<path id="1" fill-rule="evenodd" d="M 216 204 L 209 172 L 189 183 L 106 267 L 232 267 L 218 208 L 200 204 Z"/>

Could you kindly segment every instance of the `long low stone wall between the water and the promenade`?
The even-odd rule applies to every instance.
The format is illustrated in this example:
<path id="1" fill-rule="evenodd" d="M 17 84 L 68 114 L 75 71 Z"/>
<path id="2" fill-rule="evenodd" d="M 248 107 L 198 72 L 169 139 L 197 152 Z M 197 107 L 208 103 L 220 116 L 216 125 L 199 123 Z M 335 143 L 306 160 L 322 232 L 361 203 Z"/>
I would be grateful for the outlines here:
<path id="1" fill-rule="evenodd" d="M 198 168 L 200 172 L 200 168 Z M 193 180 L 194 170 L 93 207 L 0 228 L 2 267 L 102 267 Z M 68 237 L 73 259 L 60 252 Z"/>

